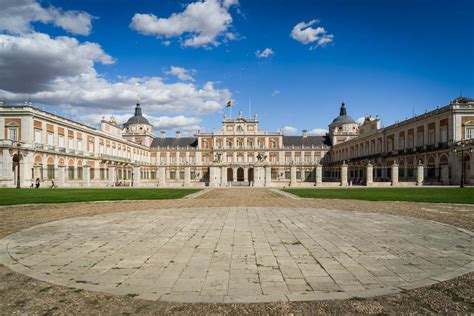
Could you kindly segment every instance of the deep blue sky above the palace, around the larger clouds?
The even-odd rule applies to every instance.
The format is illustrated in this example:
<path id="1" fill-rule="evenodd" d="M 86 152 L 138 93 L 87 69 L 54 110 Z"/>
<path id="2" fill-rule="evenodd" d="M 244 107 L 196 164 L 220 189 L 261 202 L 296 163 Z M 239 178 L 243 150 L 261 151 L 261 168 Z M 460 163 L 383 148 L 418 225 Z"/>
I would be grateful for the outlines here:
<path id="1" fill-rule="evenodd" d="M 327 128 L 343 99 L 354 119 L 379 115 L 388 125 L 413 112 L 446 105 L 461 89 L 464 95 L 474 96 L 473 1 L 240 0 L 225 7 L 223 0 L 219 1 L 225 7 L 222 12 L 230 15 L 231 22 L 215 37 L 217 43 L 201 46 L 183 44 L 194 36 L 190 32 L 169 35 L 157 26 L 149 35 L 140 28 L 147 27 L 143 21 L 131 26 L 136 13 L 166 19 L 182 14 L 191 1 L 21 1 L 93 16 L 89 32 L 71 32 L 67 26 L 58 27 L 59 22 L 34 19 L 29 32 L 47 34 L 51 39 L 75 38 L 79 45 L 96 43 L 114 61 L 103 63 L 91 57 L 97 76 L 109 85 L 132 77 L 140 78 L 138 84 L 145 78 L 160 77 L 165 85 L 184 81 L 193 86 L 196 91 L 189 96 L 193 99 L 207 82 L 213 82 L 212 91 L 189 105 L 187 93 L 177 93 L 181 100 L 174 101 L 179 105 L 166 106 L 167 100 L 154 98 L 148 88 L 150 94 L 144 93 L 142 106 L 154 122 L 160 122 L 160 129 L 187 129 L 190 133 L 197 127 L 218 128 L 227 97 L 234 100 L 234 115 L 239 110 L 247 115 L 250 100 L 262 128 L 286 126 L 293 127 L 288 133 L 295 129 L 299 133 L 301 129 Z M 332 36 L 325 45 L 318 46 L 317 41 L 305 44 L 290 36 L 298 23 L 313 19 L 319 22 L 309 27 L 323 27 L 325 33 L 320 35 Z M 27 36 L 27 32 L 12 32 L 8 26 L 3 33 Z M 226 38 L 229 33 L 232 37 Z M 266 48 L 273 54 L 258 58 L 256 51 Z M 180 80 L 169 72 L 171 66 L 184 68 L 192 79 Z M 63 76 L 68 74 L 54 77 L 54 85 Z M 48 85 L 49 89 L 54 87 L 51 82 Z M 9 99 L 21 100 L 28 90 L 19 93 L 15 89 L 0 83 L 0 92 Z M 100 93 L 97 88 L 94 95 Z M 114 111 L 119 117 L 126 116 L 128 104 L 129 111 L 133 110 L 130 95 L 119 100 L 104 97 L 101 103 L 78 95 L 79 103 L 67 101 L 64 95 L 62 100 L 45 97 L 47 93 L 38 89 L 32 94 L 33 101 L 36 98 L 59 113 L 67 112 L 68 106 L 77 108 L 75 117 L 88 123 L 96 116 L 84 115 L 84 110 L 97 115 Z M 220 106 L 204 107 L 206 98 Z M 106 102 L 110 106 L 104 106 Z M 120 103 L 115 110 L 114 102 Z M 177 117 L 188 120 L 181 122 Z M 166 124 L 173 118 L 176 124 Z"/>

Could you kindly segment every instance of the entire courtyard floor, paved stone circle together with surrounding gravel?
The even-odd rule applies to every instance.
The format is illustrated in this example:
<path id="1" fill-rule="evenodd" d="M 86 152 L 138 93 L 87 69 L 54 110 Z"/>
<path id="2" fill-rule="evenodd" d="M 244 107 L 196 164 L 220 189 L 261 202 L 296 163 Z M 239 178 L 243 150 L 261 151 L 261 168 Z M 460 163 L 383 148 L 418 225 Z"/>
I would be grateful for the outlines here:
<path id="1" fill-rule="evenodd" d="M 2 313 L 473 310 L 466 204 L 239 188 L 0 219 Z"/>

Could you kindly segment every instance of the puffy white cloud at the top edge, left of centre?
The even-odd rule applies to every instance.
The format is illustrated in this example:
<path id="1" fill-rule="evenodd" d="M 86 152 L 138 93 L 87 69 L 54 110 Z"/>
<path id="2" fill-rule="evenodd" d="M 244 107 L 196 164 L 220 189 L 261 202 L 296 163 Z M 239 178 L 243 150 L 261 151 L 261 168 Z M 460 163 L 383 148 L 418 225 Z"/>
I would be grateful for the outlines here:
<path id="1" fill-rule="evenodd" d="M 135 13 L 130 27 L 144 35 L 158 38 L 180 38 L 187 47 L 218 46 L 220 40 L 232 40 L 230 7 L 237 0 L 204 0 L 190 3 L 184 11 L 173 13 L 168 18 L 154 14 Z"/>

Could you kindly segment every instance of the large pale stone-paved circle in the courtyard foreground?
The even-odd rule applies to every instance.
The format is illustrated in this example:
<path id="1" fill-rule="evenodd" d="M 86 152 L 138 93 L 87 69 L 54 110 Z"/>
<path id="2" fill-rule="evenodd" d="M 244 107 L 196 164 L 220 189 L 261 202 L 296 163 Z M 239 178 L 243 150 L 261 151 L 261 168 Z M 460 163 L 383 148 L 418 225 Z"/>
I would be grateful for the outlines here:
<path id="1" fill-rule="evenodd" d="M 452 226 L 314 208 L 131 211 L 0 240 L 0 263 L 28 276 L 179 302 L 384 295 L 474 271 L 473 260 L 473 234 Z"/>

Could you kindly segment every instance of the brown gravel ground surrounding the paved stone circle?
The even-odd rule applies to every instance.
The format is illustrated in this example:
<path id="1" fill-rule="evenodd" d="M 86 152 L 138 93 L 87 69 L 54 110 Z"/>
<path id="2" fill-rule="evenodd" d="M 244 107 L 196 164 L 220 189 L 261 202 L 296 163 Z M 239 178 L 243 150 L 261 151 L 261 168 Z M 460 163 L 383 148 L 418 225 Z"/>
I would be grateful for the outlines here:
<path id="1" fill-rule="evenodd" d="M 474 230 L 474 206 L 408 202 L 295 199 L 266 189 L 210 190 L 193 199 L 26 205 L 0 208 L 0 238 L 41 223 L 77 216 L 169 207 L 315 207 L 410 216 Z M 474 273 L 394 295 L 260 304 L 178 304 L 72 289 L 0 266 L 0 314 L 407 314 L 474 313 Z"/>

